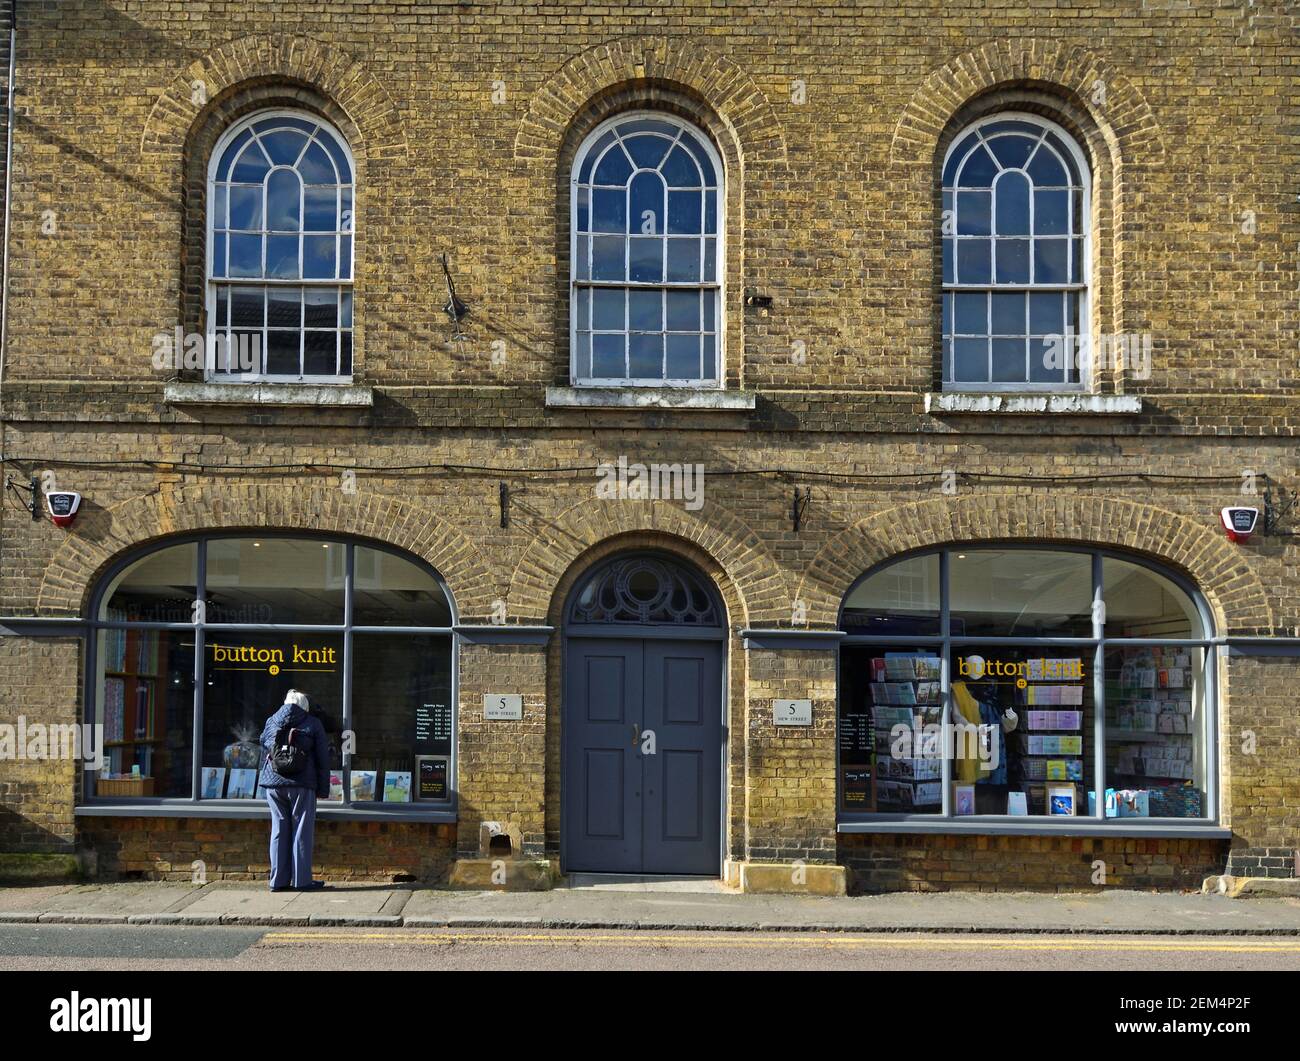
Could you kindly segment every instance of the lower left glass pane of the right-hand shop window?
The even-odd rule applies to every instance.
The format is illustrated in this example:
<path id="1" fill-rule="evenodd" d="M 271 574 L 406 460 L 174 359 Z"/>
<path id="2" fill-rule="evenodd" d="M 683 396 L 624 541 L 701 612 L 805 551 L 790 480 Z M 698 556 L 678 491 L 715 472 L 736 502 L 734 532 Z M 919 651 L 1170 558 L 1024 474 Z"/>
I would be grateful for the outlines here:
<path id="1" fill-rule="evenodd" d="M 942 811 L 936 649 L 845 646 L 840 654 L 840 807 Z"/>

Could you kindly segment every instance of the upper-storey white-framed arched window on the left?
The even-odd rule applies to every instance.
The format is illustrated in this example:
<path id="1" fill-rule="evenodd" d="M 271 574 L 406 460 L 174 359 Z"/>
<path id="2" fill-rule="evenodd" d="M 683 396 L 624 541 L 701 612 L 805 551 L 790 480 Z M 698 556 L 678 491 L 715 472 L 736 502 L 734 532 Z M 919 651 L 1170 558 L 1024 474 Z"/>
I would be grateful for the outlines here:
<path id="1" fill-rule="evenodd" d="M 209 380 L 352 374 L 352 156 L 320 118 L 231 126 L 208 177 Z"/>

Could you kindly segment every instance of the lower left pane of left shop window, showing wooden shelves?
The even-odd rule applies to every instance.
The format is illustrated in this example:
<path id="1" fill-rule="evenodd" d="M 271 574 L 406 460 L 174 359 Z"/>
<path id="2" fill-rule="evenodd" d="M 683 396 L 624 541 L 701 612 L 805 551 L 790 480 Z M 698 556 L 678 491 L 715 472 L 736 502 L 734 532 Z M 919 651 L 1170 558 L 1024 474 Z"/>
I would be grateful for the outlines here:
<path id="1" fill-rule="evenodd" d="M 185 549 L 192 553 L 194 546 Z M 170 562 L 174 559 L 173 555 Z M 188 610 L 186 605 L 183 611 Z M 161 602 L 153 614 L 172 620 L 172 609 Z M 100 631 L 96 655 L 95 722 L 104 726 L 104 763 L 94 775 L 95 794 L 188 798 L 194 758 L 194 633 Z"/>

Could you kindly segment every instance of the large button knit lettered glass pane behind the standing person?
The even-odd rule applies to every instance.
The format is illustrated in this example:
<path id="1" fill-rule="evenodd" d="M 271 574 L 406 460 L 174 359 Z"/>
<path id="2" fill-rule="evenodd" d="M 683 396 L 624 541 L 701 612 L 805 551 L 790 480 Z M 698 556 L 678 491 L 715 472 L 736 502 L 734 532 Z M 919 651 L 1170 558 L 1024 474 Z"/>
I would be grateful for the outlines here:
<path id="1" fill-rule="evenodd" d="M 332 736 L 330 763 L 339 765 L 342 633 L 208 631 L 203 658 L 203 798 L 256 797 L 256 774 L 237 771 L 256 770 L 264 753 L 251 745 L 260 745 L 266 719 L 290 689 L 307 693 L 312 714 Z"/>

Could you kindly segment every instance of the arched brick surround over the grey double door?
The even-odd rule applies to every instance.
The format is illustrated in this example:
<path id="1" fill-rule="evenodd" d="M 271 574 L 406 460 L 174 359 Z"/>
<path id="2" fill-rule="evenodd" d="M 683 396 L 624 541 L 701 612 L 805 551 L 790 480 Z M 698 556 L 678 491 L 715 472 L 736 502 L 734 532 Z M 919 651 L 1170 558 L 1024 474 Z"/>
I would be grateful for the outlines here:
<path id="1" fill-rule="evenodd" d="M 507 598 L 511 622 L 545 622 L 556 586 L 578 557 L 608 538 L 638 532 L 681 538 L 711 557 L 740 596 L 733 625 L 789 625 L 789 586 L 758 536 L 731 514 L 689 512 L 667 501 L 582 502 L 552 520 L 515 567 Z"/>

